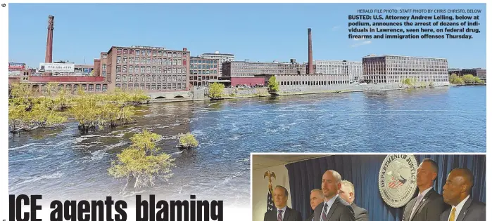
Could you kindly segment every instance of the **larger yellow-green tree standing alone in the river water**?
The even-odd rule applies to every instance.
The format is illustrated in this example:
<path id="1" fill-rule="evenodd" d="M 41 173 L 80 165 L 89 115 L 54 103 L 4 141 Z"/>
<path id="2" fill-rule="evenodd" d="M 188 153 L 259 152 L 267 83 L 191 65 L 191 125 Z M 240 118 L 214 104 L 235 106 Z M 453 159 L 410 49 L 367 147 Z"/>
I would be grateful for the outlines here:
<path id="1" fill-rule="evenodd" d="M 125 189 L 128 185 L 139 189 L 155 185 L 156 180 L 167 181 L 172 177 L 171 167 L 175 164 L 169 154 L 159 154 L 156 141 L 161 138 L 147 130 L 133 135 L 130 138 L 132 145 L 118 154 L 108 173 L 114 178 L 126 178 Z"/>

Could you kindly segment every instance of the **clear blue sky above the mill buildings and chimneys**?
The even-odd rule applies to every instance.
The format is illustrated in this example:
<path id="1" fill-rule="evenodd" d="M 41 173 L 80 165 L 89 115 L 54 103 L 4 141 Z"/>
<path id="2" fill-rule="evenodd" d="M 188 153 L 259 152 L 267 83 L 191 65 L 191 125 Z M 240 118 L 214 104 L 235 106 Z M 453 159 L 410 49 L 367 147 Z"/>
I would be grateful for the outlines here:
<path id="1" fill-rule="evenodd" d="M 53 60 L 87 64 L 111 46 L 233 53 L 236 60 L 362 60 L 370 54 L 447 58 L 449 67 L 486 68 L 485 4 L 9 4 L 8 59 L 44 62 L 48 15 L 55 16 Z M 348 39 L 358 9 L 481 9 L 473 39 Z M 372 14 L 367 14 L 372 15 Z M 391 15 L 410 15 L 405 13 Z M 423 14 L 434 15 L 434 13 Z M 441 15 L 441 14 L 438 14 Z M 455 14 L 443 14 L 455 15 Z M 460 14 L 461 15 L 461 14 Z M 470 14 L 467 14 L 470 15 Z M 372 21 L 371 21 L 372 22 Z M 402 21 L 403 22 L 403 21 Z"/>

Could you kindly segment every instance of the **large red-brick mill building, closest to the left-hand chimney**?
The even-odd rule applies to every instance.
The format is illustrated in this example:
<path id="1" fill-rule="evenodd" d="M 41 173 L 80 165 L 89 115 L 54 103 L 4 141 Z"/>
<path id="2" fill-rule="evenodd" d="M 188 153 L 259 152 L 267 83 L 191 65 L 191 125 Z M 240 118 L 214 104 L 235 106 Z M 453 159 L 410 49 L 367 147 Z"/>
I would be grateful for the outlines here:
<path id="1" fill-rule="evenodd" d="M 113 88 L 139 88 L 146 92 L 188 91 L 190 53 L 149 46 L 112 46 L 101 53 L 100 74 Z"/>

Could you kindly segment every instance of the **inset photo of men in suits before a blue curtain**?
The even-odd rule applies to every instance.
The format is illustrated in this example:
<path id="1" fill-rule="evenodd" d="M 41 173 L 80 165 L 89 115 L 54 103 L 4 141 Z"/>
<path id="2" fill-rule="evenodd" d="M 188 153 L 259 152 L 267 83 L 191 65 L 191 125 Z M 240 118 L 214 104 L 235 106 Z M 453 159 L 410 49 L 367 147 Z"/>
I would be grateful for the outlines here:
<path id="1" fill-rule="evenodd" d="M 254 221 L 485 220 L 485 154 L 251 154 Z"/>

